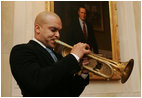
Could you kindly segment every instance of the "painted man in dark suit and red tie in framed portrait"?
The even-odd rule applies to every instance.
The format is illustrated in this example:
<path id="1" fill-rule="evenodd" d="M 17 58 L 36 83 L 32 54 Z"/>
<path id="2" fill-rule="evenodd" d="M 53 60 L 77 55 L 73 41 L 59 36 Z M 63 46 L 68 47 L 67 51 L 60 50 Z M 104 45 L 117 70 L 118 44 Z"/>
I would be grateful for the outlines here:
<path id="1" fill-rule="evenodd" d="M 70 45 L 74 45 L 78 42 L 87 43 L 94 53 L 98 53 L 94 31 L 92 26 L 86 21 L 87 11 L 84 6 L 79 7 L 78 16 L 79 17 L 74 19 L 69 26 L 65 38 L 66 42 Z"/>

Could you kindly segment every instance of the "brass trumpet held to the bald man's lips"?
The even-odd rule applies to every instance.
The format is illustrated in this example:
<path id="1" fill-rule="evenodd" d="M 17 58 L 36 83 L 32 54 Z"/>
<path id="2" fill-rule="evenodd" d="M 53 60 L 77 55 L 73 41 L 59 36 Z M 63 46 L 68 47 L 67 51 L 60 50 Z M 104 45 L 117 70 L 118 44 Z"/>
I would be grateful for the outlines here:
<path id="1" fill-rule="evenodd" d="M 60 40 L 55 40 L 55 42 L 63 46 L 60 50 L 63 56 L 69 54 L 73 48 L 71 45 L 66 44 Z M 116 62 L 114 60 L 101 57 L 93 52 L 85 56 L 90 58 L 90 63 L 89 65 L 82 65 L 83 68 L 105 79 L 111 79 L 115 71 L 117 75 L 121 77 L 121 83 L 125 83 L 128 80 L 134 66 L 133 59 L 130 59 L 128 62 Z"/>

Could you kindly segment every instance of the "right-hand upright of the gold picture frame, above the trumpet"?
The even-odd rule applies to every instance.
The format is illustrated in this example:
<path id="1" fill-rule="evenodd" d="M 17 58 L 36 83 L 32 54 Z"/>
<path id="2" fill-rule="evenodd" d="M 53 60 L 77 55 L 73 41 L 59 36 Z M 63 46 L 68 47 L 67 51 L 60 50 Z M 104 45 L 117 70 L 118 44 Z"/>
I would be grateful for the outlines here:
<path id="1" fill-rule="evenodd" d="M 111 29 L 111 41 L 112 41 L 112 58 L 113 60 L 120 61 L 120 48 L 119 48 L 119 36 L 118 36 L 118 19 L 117 19 L 117 7 L 116 1 L 109 1 L 109 13 L 110 13 L 110 29 Z"/>

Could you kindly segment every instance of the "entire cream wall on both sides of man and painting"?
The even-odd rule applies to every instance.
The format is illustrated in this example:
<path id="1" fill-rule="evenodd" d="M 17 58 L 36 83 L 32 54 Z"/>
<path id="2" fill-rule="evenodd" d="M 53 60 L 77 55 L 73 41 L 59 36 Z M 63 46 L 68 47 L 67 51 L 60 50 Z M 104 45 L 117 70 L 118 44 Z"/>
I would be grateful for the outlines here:
<path id="1" fill-rule="evenodd" d="M 10 4 L 9 2 L 7 3 Z M 13 45 L 28 42 L 33 37 L 35 16 L 45 10 L 45 2 L 16 1 L 7 7 L 10 7 L 10 9 L 2 10 L 5 14 L 8 11 L 6 16 L 5 14 L 2 16 L 4 19 L 4 22 L 2 22 L 2 96 L 21 96 L 17 86 L 15 86 L 15 82 L 13 82 L 14 80 L 11 80 L 12 76 L 7 63 L 9 52 Z M 140 41 L 138 40 L 140 39 L 140 27 L 137 25 L 141 20 L 138 17 L 141 12 L 140 3 L 117 2 L 117 10 L 121 61 L 127 61 L 130 58 L 135 60 L 132 75 L 125 84 L 121 84 L 120 81 L 92 81 L 82 93 L 82 97 L 140 96 L 140 49 L 138 49 L 140 47 Z M 5 23 L 12 23 L 13 26 L 11 25 L 11 28 L 4 27 L 5 25 L 9 26 Z M 6 38 L 9 38 L 10 41 Z M 7 48 L 7 52 L 4 52 Z M 7 56 L 4 56 L 5 53 Z M 5 76 L 5 73 L 8 74 Z M 9 83 L 10 81 L 12 82 L 11 84 Z"/>

